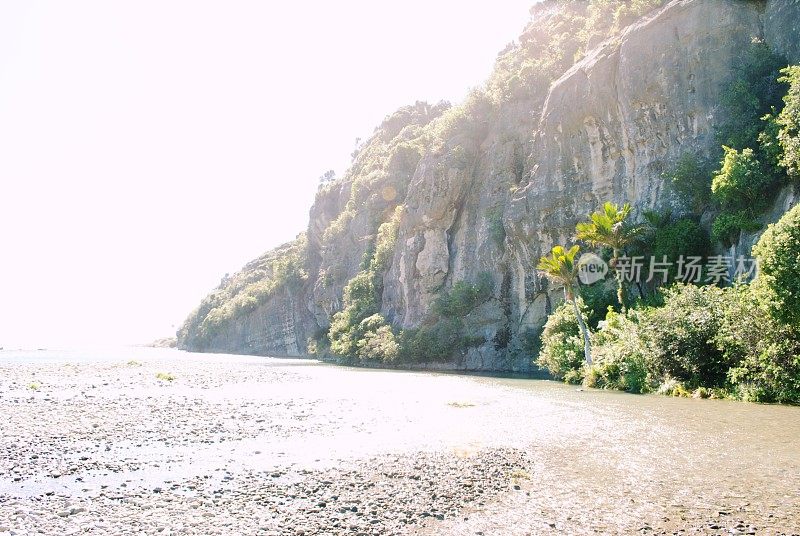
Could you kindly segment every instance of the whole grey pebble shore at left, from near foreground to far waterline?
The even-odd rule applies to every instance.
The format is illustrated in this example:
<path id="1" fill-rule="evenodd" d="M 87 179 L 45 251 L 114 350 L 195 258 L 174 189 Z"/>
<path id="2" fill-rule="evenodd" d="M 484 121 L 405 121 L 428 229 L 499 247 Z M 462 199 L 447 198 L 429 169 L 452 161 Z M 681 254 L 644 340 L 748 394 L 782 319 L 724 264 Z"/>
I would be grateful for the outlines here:
<path id="1" fill-rule="evenodd" d="M 291 368 L 24 364 L 2 377 L 0 533 L 397 534 L 513 490 L 530 465 L 501 448 L 282 452 L 337 428 L 315 418 L 320 401 L 225 388 L 291 382 Z"/>

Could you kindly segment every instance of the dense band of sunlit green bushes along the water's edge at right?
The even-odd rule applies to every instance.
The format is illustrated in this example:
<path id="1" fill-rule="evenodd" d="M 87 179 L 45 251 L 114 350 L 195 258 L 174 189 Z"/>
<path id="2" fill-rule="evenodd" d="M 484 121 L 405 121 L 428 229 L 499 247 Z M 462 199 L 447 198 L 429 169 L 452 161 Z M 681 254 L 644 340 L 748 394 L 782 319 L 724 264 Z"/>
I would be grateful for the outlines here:
<path id="1" fill-rule="evenodd" d="M 721 288 L 677 283 L 660 305 L 610 310 L 580 359 L 574 314 L 547 321 L 537 359 L 555 377 L 632 392 L 800 403 L 800 206 L 754 247 L 761 274 Z"/>

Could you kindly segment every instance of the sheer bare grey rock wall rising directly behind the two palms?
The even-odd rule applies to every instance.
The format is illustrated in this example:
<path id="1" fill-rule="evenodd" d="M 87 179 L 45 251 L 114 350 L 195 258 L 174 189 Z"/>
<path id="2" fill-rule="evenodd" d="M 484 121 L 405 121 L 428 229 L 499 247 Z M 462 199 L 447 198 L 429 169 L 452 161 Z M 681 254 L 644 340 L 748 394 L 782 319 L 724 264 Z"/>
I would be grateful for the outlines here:
<path id="1" fill-rule="evenodd" d="M 547 302 L 546 283 L 533 259 L 570 241 L 575 223 L 604 201 L 681 210 L 662 173 L 684 152 L 717 148 L 722 89 L 741 51 L 762 37 L 761 24 L 756 2 L 672 2 L 600 44 L 553 84 L 535 132 L 530 181 L 507 212 L 515 309 L 535 305 L 523 324 L 535 326 L 547 311 L 536 306 Z M 524 291 L 527 278 L 533 296 Z"/>

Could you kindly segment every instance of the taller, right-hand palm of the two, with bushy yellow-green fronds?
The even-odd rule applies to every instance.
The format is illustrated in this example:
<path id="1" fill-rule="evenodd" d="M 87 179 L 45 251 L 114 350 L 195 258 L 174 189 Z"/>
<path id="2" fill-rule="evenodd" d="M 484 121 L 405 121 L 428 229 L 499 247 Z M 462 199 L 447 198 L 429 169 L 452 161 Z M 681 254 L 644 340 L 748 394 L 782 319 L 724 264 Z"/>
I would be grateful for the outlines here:
<path id="1" fill-rule="evenodd" d="M 640 225 L 628 221 L 631 206 L 625 203 L 620 207 L 614 203 L 606 202 L 602 210 L 589 216 L 589 221 L 581 222 L 575 227 L 575 238 L 583 240 L 595 247 L 611 249 L 611 269 L 617 278 L 617 301 L 625 310 L 625 284 L 617 271 L 617 262 L 620 253 L 632 244 L 642 232 Z"/>

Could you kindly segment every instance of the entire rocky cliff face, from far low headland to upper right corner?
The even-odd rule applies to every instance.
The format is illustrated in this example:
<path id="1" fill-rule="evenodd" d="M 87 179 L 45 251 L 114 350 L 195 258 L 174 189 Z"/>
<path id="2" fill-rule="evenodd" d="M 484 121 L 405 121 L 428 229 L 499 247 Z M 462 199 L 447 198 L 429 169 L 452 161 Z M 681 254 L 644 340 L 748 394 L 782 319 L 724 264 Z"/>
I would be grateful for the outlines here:
<path id="1" fill-rule="evenodd" d="M 560 17 L 557 7 L 541 9 L 498 70 L 523 57 L 524 72 L 558 35 L 543 28 L 557 28 Z M 274 290 L 206 349 L 304 353 L 341 310 L 378 226 L 395 215 L 380 313 L 398 329 L 420 326 L 442 292 L 489 273 L 492 297 L 463 319 L 478 342 L 444 366 L 528 370 L 531 340 L 558 298 L 534 269 L 538 258 L 607 200 L 681 211 L 662 173 L 688 150 L 718 149 L 721 91 L 752 40 L 800 61 L 798 21 L 793 0 L 675 0 L 577 63 L 550 61 L 550 79 L 511 77 L 499 93 L 490 81 L 459 107 L 401 109 L 342 179 L 321 188 L 303 284 Z"/>

